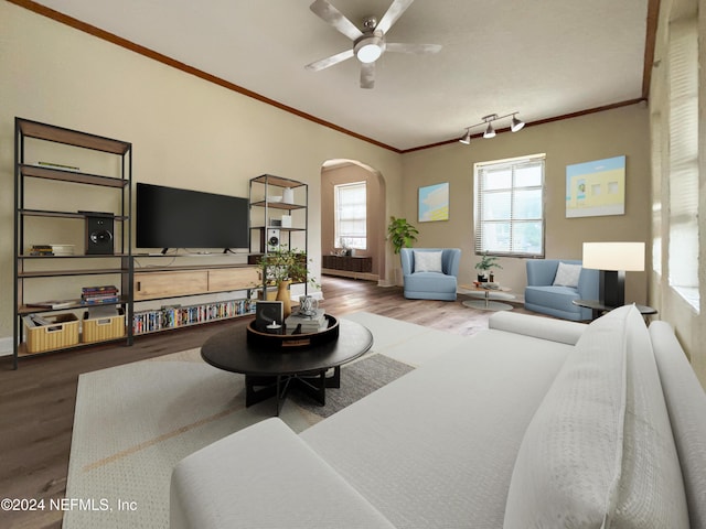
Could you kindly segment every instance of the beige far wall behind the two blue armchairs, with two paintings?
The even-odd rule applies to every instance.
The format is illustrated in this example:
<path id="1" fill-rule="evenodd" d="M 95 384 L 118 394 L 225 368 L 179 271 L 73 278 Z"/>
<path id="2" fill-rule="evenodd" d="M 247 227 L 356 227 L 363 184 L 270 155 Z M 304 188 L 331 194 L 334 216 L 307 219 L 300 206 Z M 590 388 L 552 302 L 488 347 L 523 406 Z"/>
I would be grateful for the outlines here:
<path id="1" fill-rule="evenodd" d="M 536 127 L 494 139 L 473 139 L 404 156 L 404 214 L 419 229 L 418 247 L 458 247 L 462 250 L 460 282 L 472 280 L 473 164 L 526 154 L 546 153 L 545 241 L 547 258 L 581 258 L 584 241 L 650 239 L 650 156 L 648 109 L 634 105 Z M 624 154 L 627 156 L 625 214 L 566 218 L 566 165 Z M 450 219 L 417 223 L 417 190 L 441 182 L 450 184 Z M 648 257 L 649 262 L 649 257 Z M 501 259 L 496 280 L 522 295 L 525 261 Z M 645 303 L 646 272 L 627 274 L 627 301 Z"/>

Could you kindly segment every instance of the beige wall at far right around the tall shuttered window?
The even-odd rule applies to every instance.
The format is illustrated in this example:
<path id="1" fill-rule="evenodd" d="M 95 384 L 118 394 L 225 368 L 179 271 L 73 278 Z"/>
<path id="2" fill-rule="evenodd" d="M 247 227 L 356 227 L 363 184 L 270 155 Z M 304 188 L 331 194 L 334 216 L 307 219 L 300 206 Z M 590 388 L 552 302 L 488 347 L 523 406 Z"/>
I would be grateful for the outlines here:
<path id="1" fill-rule="evenodd" d="M 698 14 L 697 14 L 698 13 Z M 674 185 L 670 166 L 670 89 L 667 79 L 668 33 L 672 22 L 697 19 L 698 34 L 706 34 L 706 0 L 672 0 L 662 2 L 656 39 L 655 67 L 651 86 L 651 129 L 653 133 L 654 184 L 652 202 L 654 216 L 651 219 L 655 245 L 661 253 L 661 270 L 650 274 L 650 304 L 659 309 L 660 319 L 668 322 L 680 343 L 686 350 L 702 386 L 706 388 L 706 40 L 699 39 L 698 64 L 698 169 L 699 169 L 699 217 L 698 217 L 698 282 L 699 310 L 688 304 L 670 284 L 670 192 Z M 677 123 L 682 117 L 677 117 Z M 656 252 L 655 252 L 656 253 Z"/>

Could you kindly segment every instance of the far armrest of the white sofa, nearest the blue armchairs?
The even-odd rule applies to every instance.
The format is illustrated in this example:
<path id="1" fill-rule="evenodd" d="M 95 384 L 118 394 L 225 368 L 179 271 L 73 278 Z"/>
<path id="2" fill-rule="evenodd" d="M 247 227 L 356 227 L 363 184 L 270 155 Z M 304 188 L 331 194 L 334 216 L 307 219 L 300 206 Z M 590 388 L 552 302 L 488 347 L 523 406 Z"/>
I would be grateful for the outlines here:
<path id="1" fill-rule="evenodd" d="M 488 327 L 495 331 L 505 331 L 567 345 L 576 345 L 587 326 L 585 323 L 550 320 L 513 312 L 495 312 L 488 322 Z"/>

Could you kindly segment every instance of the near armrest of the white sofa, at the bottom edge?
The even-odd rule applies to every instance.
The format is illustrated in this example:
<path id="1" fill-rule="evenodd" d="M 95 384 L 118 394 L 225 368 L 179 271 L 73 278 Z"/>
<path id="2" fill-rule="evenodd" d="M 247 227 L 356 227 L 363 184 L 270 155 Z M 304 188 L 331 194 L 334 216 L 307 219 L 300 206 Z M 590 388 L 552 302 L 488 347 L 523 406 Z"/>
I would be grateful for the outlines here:
<path id="1" fill-rule="evenodd" d="M 172 472 L 171 529 L 393 526 L 279 419 L 186 456 Z"/>

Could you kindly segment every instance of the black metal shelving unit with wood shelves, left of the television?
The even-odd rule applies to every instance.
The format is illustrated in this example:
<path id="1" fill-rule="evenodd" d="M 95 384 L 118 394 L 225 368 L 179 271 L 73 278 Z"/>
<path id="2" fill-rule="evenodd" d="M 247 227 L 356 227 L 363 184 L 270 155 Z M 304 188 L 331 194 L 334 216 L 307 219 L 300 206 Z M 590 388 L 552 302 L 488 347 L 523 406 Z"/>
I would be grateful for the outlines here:
<path id="1" fill-rule="evenodd" d="M 24 343 L 23 316 L 32 313 L 55 313 L 58 311 L 72 311 L 86 309 L 81 304 L 79 300 L 73 300 L 74 303 L 61 309 L 47 309 L 32 305 L 32 302 L 41 300 L 29 300 L 26 298 L 26 283 L 38 278 L 66 278 L 77 276 L 106 276 L 115 274 L 120 277 L 120 298 L 115 305 L 120 305 L 126 315 L 126 332 L 121 337 L 109 341 L 126 341 L 127 344 L 132 342 L 132 256 L 131 256 L 131 204 L 132 204 L 132 144 L 127 141 L 105 138 L 87 132 L 56 127 L 53 125 L 41 123 L 23 118 L 15 118 L 15 160 L 14 160 L 14 339 L 13 339 L 13 365 L 18 368 L 19 358 L 23 356 L 34 356 L 40 354 L 53 353 L 55 350 L 64 350 L 68 348 L 82 347 L 92 344 L 76 344 L 65 348 L 51 349 L 41 353 L 28 353 Z M 39 140 L 41 142 L 50 142 L 58 145 L 71 148 L 79 148 L 88 151 L 97 151 L 105 153 L 107 156 L 118 156 L 118 175 L 105 176 L 100 174 L 85 173 L 77 170 L 68 170 L 62 166 L 38 165 L 26 163 L 29 149 L 28 140 Z M 34 145 L 34 143 L 32 142 Z M 41 209 L 26 207 L 28 192 L 25 183 L 29 179 L 47 180 L 54 182 L 64 182 L 69 184 L 81 184 L 95 186 L 105 192 L 120 193 L 120 197 L 116 203 L 119 206 L 111 212 L 115 225 L 119 225 L 120 237 L 114 241 L 114 253 L 100 255 L 63 255 L 63 256 L 35 256 L 26 251 L 25 240 L 26 223 L 32 217 L 52 217 L 76 219 L 85 223 L 86 213 L 62 210 L 61 196 L 55 201 L 58 208 Z M 87 204 L 87 210 L 90 204 Z M 84 230 L 83 223 L 77 229 Z M 106 267 L 105 261 L 111 263 Z M 99 262 L 98 262 L 99 261 Z M 32 267 L 28 263 L 32 262 Z M 97 262 L 96 266 L 92 263 Z M 38 264 L 40 263 L 40 264 Z M 65 268 L 66 263 L 76 264 L 77 268 Z M 58 266 L 57 266 L 58 264 Z M 67 300 L 69 302 L 72 300 Z"/>

